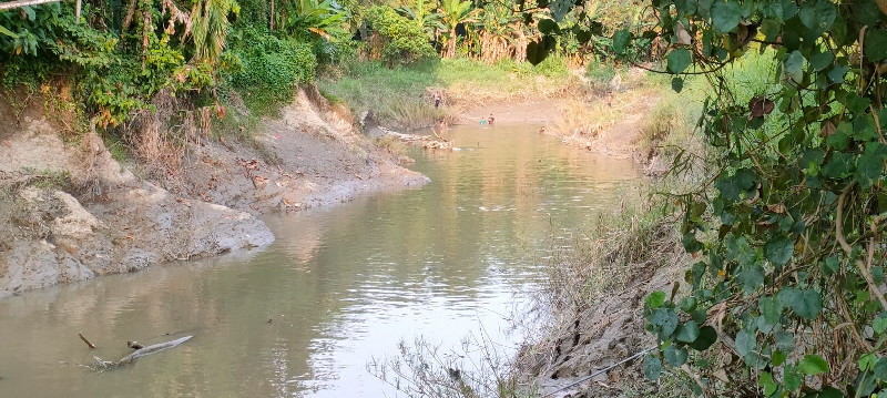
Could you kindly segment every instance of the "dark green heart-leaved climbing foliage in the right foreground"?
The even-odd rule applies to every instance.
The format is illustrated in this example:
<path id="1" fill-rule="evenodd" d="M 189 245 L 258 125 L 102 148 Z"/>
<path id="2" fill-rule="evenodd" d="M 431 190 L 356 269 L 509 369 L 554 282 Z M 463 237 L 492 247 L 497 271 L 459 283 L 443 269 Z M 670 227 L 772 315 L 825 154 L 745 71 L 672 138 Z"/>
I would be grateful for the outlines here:
<path id="1" fill-rule="evenodd" d="M 720 154 L 706 184 L 676 196 L 683 244 L 702 256 L 691 294 L 645 300 L 660 349 L 644 373 L 683 367 L 708 396 L 887 394 L 887 3 L 653 7 L 669 71 L 712 83 L 699 126 Z M 758 44 L 776 48 L 774 84 L 741 95 L 725 67 Z"/>

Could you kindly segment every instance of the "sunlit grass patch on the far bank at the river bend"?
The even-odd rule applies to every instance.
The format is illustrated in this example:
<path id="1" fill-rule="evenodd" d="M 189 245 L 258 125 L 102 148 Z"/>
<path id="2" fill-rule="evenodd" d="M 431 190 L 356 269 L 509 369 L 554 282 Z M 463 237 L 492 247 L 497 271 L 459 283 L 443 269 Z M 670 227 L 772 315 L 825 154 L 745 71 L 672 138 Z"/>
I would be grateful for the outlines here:
<path id="1" fill-rule="evenodd" d="M 462 58 L 396 68 L 354 62 L 341 76 L 320 80 L 318 86 L 324 96 L 347 103 L 355 114 L 373 110 L 384 125 L 415 129 L 456 120 L 478 104 L 561 95 L 574 83 L 559 57 L 537 67 L 513 61 L 489 65 Z M 434 106 L 432 90 L 445 92 L 440 109 Z"/>

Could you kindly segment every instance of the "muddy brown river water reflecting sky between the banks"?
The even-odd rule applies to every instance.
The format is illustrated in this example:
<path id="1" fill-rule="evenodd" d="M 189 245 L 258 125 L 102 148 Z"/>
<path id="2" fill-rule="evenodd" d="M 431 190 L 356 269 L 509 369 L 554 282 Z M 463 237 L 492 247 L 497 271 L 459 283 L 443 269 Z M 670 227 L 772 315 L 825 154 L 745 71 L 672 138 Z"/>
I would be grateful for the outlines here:
<path id="1" fill-rule="evenodd" d="M 537 129 L 452 129 L 459 151 L 414 154 L 428 185 L 272 215 L 263 251 L 0 299 L 0 397 L 390 397 L 366 365 L 400 340 L 458 351 L 481 333 L 508 354 L 552 242 L 636 196 L 640 178 Z M 185 335 L 88 367 L 130 339 Z"/>

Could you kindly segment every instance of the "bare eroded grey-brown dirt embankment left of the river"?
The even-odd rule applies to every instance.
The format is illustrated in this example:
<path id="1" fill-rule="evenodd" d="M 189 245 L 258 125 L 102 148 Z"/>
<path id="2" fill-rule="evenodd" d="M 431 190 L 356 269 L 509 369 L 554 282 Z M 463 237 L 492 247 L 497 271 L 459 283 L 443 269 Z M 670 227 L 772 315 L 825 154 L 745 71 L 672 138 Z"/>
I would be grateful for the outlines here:
<path id="1" fill-rule="evenodd" d="M 187 143 L 177 173 L 161 177 L 141 177 L 140 162 L 123 167 L 96 134 L 67 136 L 49 116 L 0 100 L 0 297 L 266 246 L 274 235 L 258 213 L 427 181 L 312 91 L 254 143 Z"/>

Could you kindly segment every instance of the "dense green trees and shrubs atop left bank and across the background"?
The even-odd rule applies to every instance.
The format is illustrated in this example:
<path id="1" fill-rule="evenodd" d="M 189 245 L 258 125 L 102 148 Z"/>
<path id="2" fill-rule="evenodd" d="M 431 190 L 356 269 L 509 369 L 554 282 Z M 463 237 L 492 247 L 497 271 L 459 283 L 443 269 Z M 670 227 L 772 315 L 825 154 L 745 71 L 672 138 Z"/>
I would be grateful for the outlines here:
<path id="1" fill-rule="evenodd" d="M 169 114 L 212 108 L 224 118 L 241 102 L 267 113 L 318 72 L 373 60 L 388 67 L 440 57 L 521 63 L 537 42 L 573 60 L 604 53 L 606 43 L 591 41 L 590 29 L 602 32 L 594 14 L 546 6 L 91 0 L 75 20 L 73 3 L 49 3 L 0 12 L 0 73 L 7 93 L 70 84 L 64 91 L 82 105 L 83 119 L 114 131 L 159 103 L 173 108 Z M 554 31 L 557 40 L 546 35 Z M 539 58 L 531 61 L 547 53 L 531 51 Z"/>

